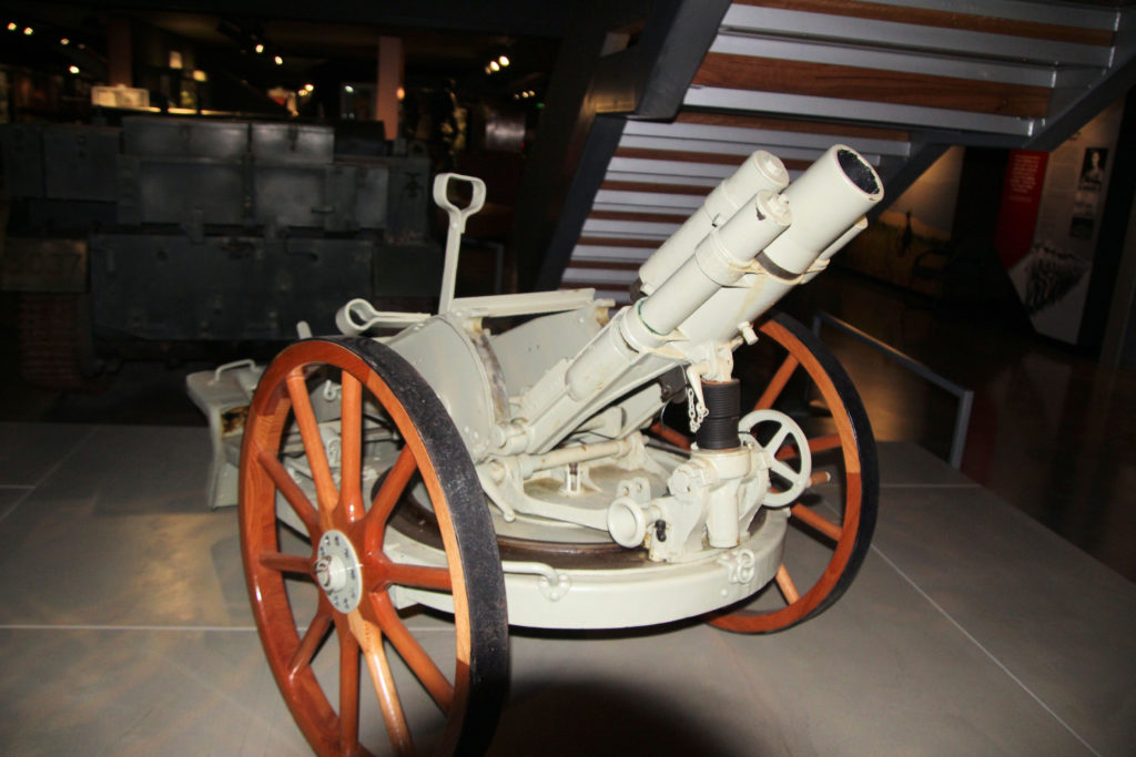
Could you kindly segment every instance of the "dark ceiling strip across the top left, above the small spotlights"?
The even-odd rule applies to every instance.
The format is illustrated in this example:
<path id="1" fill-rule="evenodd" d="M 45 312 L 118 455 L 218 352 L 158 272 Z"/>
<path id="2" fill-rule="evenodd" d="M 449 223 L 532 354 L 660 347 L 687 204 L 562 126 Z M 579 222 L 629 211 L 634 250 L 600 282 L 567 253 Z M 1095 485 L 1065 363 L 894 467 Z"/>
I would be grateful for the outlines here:
<path id="1" fill-rule="evenodd" d="M 381 36 L 402 40 L 410 85 L 453 79 L 466 89 L 479 84 L 513 86 L 551 70 L 567 25 L 569 2 L 493 0 L 456 2 L 333 1 L 273 3 L 249 0 L 153 2 L 93 1 L 5 2 L 0 14 L 20 26 L 34 24 L 48 39 L 66 35 L 82 42 L 87 54 L 106 58 L 107 26 L 112 17 L 161 30 L 190 42 L 200 58 L 223 65 L 242 78 L 295 86 L 314 70 L 342 72 L 345 78 L 374 76 Z M 274 68 L 250 54 L 256 37 L 284 65 Z M 36 40 L 36 42 L 39 42 Z M 32 40 L 24 40 L 26 49 Z M 57 51 L 58 52 L 58 51 Z M 485 78 L 488 56 L 506 53 L 513 66 L 508 76 Z M 241 70 L 245 68 L 248 70 Z"/>

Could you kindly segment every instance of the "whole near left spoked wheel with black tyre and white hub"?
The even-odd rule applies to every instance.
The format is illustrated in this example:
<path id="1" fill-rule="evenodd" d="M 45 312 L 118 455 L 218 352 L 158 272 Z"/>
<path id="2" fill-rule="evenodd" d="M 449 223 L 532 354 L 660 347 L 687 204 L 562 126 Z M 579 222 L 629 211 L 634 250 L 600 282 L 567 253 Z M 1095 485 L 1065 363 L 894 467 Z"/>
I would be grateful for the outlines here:
<path id="1" fill-rule="evenodd" d="M 292 345 L 257 387 L 240 481 L 257 628 L 311 747 L 484 750 L 509 674 L 504 580 L 473 463 L 421 377 L 369 339 Z M 394 530 L 410 488 L 428 497 L 435 547 Z M 407 617 L 415 591 L 452 598 L 452 623 Z"/>

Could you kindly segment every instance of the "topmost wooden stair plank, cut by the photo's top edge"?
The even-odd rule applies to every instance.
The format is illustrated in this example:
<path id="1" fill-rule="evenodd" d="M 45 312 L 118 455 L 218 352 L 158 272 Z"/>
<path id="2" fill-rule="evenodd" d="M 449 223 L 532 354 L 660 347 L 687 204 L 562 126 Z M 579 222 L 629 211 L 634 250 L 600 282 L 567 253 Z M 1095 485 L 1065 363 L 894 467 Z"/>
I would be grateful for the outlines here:
<path id="1" fill-rule="evenodd" d="M 734 0 L 743 6 L 761 8 L 778 8 L 810 14 L 830 16 L 851 16 L 901 24 L 920 24 L 941 28 L 960 30 L 964 32 L 982 32 L 985 34 L 1005 34 L 1024 36 L 1031 40 L 1052 40 L 1054 42 L 1071 42 L 1092 44 L 1103 48 L 1112 47 L 1112 32 L 1108 30 L 1080 28 L 1077 26 L 1056 26 L 1038 24 L 1014 18 L 997 18 L 995 16 L 978 16 L 960 14 L 951 10 L 933 10 L 928 8 L 904 8 L 878 2 L 853 2 L 850 0 Z M 1070 10 L 1070 12 L 1076 12 Z"/>

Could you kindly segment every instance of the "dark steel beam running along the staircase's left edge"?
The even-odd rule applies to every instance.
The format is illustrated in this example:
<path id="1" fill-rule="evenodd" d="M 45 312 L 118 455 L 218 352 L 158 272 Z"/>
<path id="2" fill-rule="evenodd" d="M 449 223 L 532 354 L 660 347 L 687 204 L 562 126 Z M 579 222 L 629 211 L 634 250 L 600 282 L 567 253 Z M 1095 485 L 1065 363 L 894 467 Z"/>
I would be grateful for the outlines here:
<path id="1" fill-rule="evenodd" d="M 521 184 L 515 249 L 523 289 L 559 285 L 624 120 L 675 116 L 728 7 L 640 0 L 579 8 Z M 620 35 L 630 44 L 615 52 Z"/>

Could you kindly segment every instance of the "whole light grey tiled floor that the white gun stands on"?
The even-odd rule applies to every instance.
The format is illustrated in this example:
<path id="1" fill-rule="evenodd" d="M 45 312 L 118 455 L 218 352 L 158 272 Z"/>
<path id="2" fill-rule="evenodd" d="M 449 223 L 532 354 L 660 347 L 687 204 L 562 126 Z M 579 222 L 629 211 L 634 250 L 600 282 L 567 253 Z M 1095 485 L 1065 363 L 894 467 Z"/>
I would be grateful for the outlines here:
<path id="1" fill-rule="evenodd" d="M 6 754 L 307 751 L 207 457 L 203 429 L 0 423 Z M 494 754 L 1136 751 L 1136 587 L 917 447 L 882 470 L 874 549 L 815 621 L 515 633 Z"/>

